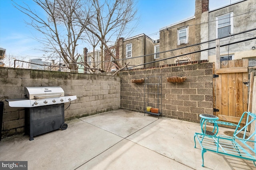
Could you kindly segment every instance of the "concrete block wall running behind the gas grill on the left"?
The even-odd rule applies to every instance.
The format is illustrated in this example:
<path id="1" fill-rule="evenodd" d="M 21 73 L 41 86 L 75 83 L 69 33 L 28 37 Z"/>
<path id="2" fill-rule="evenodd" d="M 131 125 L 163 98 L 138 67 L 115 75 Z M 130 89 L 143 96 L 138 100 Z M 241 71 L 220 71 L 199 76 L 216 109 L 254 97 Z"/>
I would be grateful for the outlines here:
<path id="1" fill-rule="evenodd" d="M 25 109 L 5 99 L 24 97 L 27 86 L 60 86 L 77 99 L 65 103 L 65 120 L 120 108 L 120 77 L 0 67 L 0 101 L 4 101 L 2 137 L 24 132 Z M 70 104 L 70 107 L 68 107 Z"/>

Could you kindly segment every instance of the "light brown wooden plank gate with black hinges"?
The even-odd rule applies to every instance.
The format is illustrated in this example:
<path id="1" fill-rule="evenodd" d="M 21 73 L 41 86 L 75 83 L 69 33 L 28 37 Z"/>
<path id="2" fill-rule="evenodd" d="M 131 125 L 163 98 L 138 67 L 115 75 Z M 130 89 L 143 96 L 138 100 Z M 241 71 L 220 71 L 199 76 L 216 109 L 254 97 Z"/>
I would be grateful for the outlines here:
<path id="1" fill-rule="evenodd" d="M 248 59 L 222 61 L 214 75 L 214 113 L 237 124 L 248 106 Z"/>

